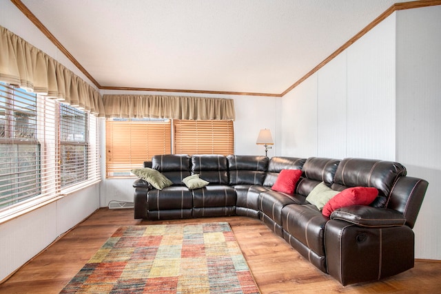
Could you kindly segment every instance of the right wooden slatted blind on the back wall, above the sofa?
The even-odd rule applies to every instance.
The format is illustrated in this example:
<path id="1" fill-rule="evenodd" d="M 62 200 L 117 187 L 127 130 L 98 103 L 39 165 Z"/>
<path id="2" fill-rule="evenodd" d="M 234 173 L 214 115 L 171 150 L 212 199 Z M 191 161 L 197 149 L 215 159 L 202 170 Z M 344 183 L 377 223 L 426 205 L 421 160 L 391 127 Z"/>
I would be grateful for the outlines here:
<path id="1" fill-rule="evenodd" d="M 234 154 L 232 120 L 174 120 L 175 154 Z"/>

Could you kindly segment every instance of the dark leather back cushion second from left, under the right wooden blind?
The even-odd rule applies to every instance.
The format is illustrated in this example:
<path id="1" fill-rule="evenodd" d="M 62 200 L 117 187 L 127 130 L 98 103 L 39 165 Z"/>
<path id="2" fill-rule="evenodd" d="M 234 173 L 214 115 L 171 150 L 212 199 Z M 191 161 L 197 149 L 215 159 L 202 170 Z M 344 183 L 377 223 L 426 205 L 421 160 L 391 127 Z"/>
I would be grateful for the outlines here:
<path id="1" fill-rule="evenodd" d="M 216 154 L 192 156 L 192 174 L 199 174 L 210 185 L 228 185 L 227 157 Z"/>

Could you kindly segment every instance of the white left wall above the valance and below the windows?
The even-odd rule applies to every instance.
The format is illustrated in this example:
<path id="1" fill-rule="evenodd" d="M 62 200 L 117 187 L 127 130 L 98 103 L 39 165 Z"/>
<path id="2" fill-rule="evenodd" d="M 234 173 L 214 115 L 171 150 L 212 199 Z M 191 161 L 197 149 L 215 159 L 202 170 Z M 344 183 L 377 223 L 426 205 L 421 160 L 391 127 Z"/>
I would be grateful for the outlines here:
<path id="1" fill-rule="evenodd" d="M 10 1 L 0 0 L 0 7 L 0 25 L 88 81 Z M 99 194 L 100 185 L 93 185 L 0 224 L 0 281 L 98 209 Z"/>

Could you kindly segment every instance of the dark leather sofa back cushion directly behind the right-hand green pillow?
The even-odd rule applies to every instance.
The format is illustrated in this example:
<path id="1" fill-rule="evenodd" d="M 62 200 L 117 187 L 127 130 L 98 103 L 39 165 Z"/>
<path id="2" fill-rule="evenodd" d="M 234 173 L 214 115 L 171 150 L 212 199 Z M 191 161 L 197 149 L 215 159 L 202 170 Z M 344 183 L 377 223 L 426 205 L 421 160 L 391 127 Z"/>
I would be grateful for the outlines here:
<path id="1" fill-rule="evenodd" d="M 296 193 L 308 196 L 320 182 L 330 187 L 334 182 L 340 160 L 322 157 L 310 157 L 302 167 L 303 176 L 298 181 Z"/>

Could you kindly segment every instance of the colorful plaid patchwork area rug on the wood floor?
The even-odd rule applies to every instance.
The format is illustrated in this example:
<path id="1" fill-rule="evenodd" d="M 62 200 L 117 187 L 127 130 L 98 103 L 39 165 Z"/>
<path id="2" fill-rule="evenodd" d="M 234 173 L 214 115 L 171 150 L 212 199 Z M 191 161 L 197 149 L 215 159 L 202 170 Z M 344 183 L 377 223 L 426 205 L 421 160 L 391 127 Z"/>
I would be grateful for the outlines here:
<path id="1" fill-rule="evenodd" d="M 121 227 L 60 293 L 260 293 L 227 222 Z"/>

